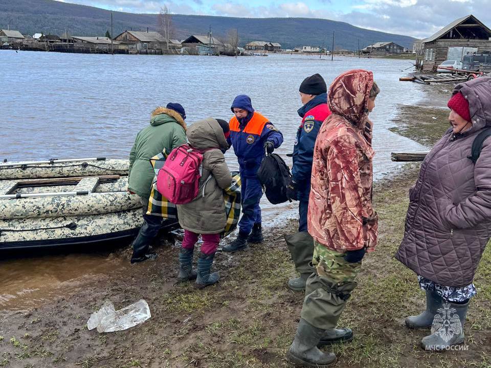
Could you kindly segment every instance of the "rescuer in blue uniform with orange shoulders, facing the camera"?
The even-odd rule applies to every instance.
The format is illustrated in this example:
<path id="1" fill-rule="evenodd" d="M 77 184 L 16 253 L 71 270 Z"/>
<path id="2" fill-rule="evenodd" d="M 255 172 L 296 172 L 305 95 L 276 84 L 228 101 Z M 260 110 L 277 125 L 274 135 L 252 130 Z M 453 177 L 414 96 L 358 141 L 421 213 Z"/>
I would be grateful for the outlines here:
<path id="1" fill-rule="evenodd" d="M 233 252 L 247 248 L 248 242 L 263 241 L 259 207 L 262 187 L 257 171 L 265 151 L 272 153 L 283 143 L 283 134 L 267 118 L 254 111 L 249 96 L 237 96 L 231 110 L 234 117 L 229 122 L 227 141 L 234 147 L 240 168 L 242 218 L 238 224 L 239 235 L 222 249 Z"/>

